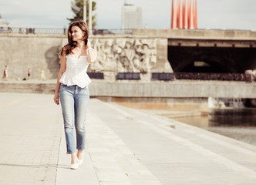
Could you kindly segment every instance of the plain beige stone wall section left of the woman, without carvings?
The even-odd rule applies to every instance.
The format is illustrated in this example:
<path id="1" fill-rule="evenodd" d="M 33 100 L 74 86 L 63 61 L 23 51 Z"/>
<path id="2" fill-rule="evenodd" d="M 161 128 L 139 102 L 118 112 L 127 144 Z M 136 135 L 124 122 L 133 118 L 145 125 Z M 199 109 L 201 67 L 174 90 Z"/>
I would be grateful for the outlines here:
<path id="1" fill-rule="evenodd" d="M 8 66 L 9 79 L 26 78 L 29 68 L 32 79 L 39 79 L 42 70 L 47 79 L 57 77 L 64 38 L 17 34 L 1 35 L 0 42 L 0 68 Z"/>

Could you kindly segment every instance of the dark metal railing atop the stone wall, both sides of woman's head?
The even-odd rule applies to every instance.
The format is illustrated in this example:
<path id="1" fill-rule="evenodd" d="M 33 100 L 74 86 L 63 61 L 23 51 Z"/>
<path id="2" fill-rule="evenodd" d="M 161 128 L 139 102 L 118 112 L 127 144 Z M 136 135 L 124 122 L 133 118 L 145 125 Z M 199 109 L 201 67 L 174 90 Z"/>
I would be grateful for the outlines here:
<path id="1" fill-rule="evenodd" d="M 67 34 L 66 28 L 0 28 L 0 33 Z M 133 29 L 93 29 L 93 35 L 133 34 Z"/>

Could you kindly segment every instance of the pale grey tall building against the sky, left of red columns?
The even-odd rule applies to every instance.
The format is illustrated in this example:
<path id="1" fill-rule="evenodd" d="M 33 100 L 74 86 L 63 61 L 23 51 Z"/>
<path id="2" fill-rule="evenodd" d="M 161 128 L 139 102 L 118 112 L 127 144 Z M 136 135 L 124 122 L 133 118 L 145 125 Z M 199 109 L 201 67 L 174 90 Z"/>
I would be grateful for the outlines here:
<path id="1" fill-rule="evenodd" d="M 141 25 L 141 8 L 125 3 L 122 10 L 122 29 L 141 29 Z"/>

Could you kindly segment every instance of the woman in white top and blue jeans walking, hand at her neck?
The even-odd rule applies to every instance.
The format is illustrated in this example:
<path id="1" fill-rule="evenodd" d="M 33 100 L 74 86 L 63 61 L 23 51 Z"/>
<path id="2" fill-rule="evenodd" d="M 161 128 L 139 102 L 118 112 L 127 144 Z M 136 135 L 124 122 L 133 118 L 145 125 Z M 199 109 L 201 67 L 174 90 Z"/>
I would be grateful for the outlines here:
<path id="1" fill-rule="evenodd" d="M 62 47 L 60 69 L 54 102 L 62 106 L 67 153 L 71 154 L 71 169 L 83 163 L 85 120 L 89 103 L 89 83 L 86 73 L 89 63 L 96 62 L 97 53 L 88 40 L 89 29 L 83 21 L 69 25 L 69 43 Z M 74 138 L 76 128 L 76 144 Z M 77 153 L 76 153 L 77 149 Z"/>

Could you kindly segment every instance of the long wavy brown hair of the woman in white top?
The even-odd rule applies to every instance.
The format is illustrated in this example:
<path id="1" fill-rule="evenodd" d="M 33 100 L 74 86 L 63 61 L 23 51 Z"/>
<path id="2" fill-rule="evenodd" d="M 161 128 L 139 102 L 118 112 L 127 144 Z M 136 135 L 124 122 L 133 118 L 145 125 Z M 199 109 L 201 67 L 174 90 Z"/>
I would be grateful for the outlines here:
<path id="1" fill-rule="evenodd" d="M 69 25 L 69 29 L 68 29 L 68 41 L 69 41 L 69 43 L 62 47 L 62 51 L 60 52 L 60 55 L 62 55 L 62 56 L 69 55 L 70 53 L 72 53 L 72 49 L 76 48 L 77 42 L 72 40 L 72 32 L 71 32 L 72 26 L 78 26 L 79 29 L 82 30 L 82 32 L 86 33 L 83 36 L 83 40 L 84 40 L 85 44 L 87 45 L 88 36 L 89 36 L 89 29 L 88 29 L 86 23 L 83 22 L 83 21 L 72 22 Z"/>

